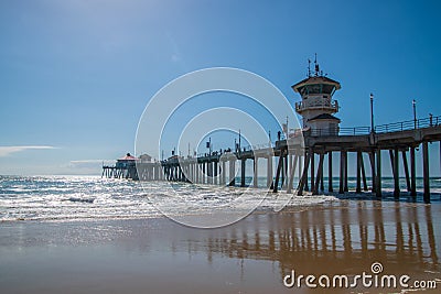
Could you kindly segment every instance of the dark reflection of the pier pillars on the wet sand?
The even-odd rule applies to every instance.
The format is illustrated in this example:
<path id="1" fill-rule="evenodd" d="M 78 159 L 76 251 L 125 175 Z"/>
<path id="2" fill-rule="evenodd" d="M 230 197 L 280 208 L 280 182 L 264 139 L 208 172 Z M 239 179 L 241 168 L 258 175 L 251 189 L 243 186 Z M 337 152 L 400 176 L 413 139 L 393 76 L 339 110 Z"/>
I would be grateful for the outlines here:
<path id="1" fill-rule="evenodd" d="M 255 214 L 228 228 L 189 237 L 189 253 L 268 260 L 282 276 L 370 273 L 380 262 L 384 274 L 440 279 L 441 206 L 388 202 L 336 202 L 282 214 Z M 243 266 L 246 266 L 243 263 Z"/>

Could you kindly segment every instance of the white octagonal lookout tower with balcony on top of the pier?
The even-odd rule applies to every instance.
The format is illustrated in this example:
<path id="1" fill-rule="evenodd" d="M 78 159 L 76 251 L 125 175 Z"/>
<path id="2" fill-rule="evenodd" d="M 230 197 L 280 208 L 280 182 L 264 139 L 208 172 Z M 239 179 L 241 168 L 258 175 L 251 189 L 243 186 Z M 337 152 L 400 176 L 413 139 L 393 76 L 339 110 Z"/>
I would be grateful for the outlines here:
<path id="1" fill-rule="evenodd" d="M 340 119 L 333 115 L 338 112 L 338 102 L 332 99 L 340 83 L 323 76 L 314 61 L 314 73 L 311 74 L 308 61 L 308 77 L 291 88 L 299 92 L 302 101 L 295 102 L 295 111 L 303 117 L 303 128 L 311 129 L 312 135 L 337 135 Z"/>

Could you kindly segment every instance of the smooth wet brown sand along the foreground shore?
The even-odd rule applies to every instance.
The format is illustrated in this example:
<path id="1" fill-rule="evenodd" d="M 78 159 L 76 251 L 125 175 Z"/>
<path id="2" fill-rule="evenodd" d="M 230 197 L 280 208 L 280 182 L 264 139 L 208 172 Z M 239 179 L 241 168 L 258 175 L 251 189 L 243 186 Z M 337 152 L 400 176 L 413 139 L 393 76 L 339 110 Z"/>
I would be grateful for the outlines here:
<path id="1" fill-rule="evenodd" d="M 166 218 L 0 224 L 1 293 L 318 293 L 297 274 L 408 274 L 441 288 L 441 204 L 338 200 L 219 229 Z M 334 288 L 399 293 L 397 288 Z"/>

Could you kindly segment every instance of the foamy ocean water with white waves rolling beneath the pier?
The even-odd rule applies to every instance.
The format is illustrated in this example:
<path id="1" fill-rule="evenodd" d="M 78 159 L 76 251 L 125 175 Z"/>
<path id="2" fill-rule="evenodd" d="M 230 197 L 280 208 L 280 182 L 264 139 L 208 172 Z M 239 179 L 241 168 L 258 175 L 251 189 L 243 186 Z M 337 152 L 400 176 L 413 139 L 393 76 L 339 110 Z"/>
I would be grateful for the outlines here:
<path id="1" fill-rule="evenodd" d="M 265 185 L 259 178 L 259 186 Z M 338 181 L 334 178 L 334 190 Z M 239 183 L 239 179 L 236 181 Z M 251 177 L 247 177 L 247 184 Z M 327 179 L 325 178 L 325 190 Z M 369 183 L 369 181 L 368 181 Z M 348 178 L 349 190 L 355 177 Z M 432 202 L 441 199 L 441 178 L 430 181 Z M 295 186 L 295 183 L 294 183 Z M 400 179 L 402 202 L 413 202 Z M 394 200 L 394 181 L 384 178 L 385 200 Z M 422 202 L 422 178 L 417 179 L 417 202 Z M 265 188 L 219 187 L 168 182 L 136 182 L 99 176 L 0 176 L 0 220 L 86 220 L 104 218 L 150 218 L 166 215 L 203 214 L 213 210 L 247 213 L 277 210 L 283 206 L 306 206 L 340 199 L 375 199 L 370 193 L 356 195 L 287 195 Z"/>

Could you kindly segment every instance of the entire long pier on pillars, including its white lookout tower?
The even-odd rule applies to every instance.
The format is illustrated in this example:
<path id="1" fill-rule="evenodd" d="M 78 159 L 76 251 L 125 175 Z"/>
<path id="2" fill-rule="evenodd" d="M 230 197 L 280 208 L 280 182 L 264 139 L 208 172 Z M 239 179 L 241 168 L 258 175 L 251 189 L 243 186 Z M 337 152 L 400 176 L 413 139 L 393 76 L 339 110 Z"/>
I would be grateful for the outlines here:
<path id="1" fill-rule="evenodd" d="M 277 193 L 303 195 L 311 192 L 344 194 L 348 187 L 348 156 L 355 154 L 355 193 L 372 192 L 378 198 L 381 189 L 381 167 L 390 164 L 394 177 L 394 196 L 400 196 L 400 166 L 406 178 L 406 190 L 417 196 L 416 151 L 422 150 L 423 200 L 430 203 L 429 148 L 440 144 L 441 117 L 417 119 L 389 124 L 374 124 L 373 95 L 370 95 L 370 127 L 341 128 L 341 120 L 334 115 L 340 107 L 333 95 L 341 88 L 338 81 L 323 75 L 315 61 L 315 70 L 309 69 L 308 77 L 292 86 L 302 100 L 295 104 L 295 111 L 303 118 L 300 130 L 283 130 L 273 143 L 209 152 L 197 156 L 178 156 L 174 153 L 163 161 L 129 159 L 116 166 L 103 166 L 103 176 L 126 177 L 139 181 L 175 181 L 194 184 L 246 186 L 246 166 L 252 164 L 252 183 L 258 187 L 260 161 L 266 161 L 267 188 Z M 415 101 L 413 101 L 415 107 Z M 299 135 L 301 134 L 301 135 Z M 240 142 L 240 140 L 239 140 Z M 386 154 L 386 155 L 385 155 Z M 128 154 L 130 155 L 130 154 Z M 338 159 L 335 161 L 335 159 Z M 273 162 L 276 165 L 273 165 Z M 367 163 L 366 163 L 367 162 Z M 387 163 L 389 162 L 389 163 Z M 401 162 L 401 165 L 400 165 Z M 122 164 L 125 163 L 125 164 Z M 327 164 L 327 189 L 324 183 L 324 165 Z M 334 175 L 334 165 L 338 174 Z M 239 167 L 236 176 L 236 166 Z M 276 168 L 275 168 L 276 167 Z M 368 183 L 366 170 L 370 171 Z M 338 179 L 334 187 L 333 179 Z M 239 179 L 239 183 L 236 183 Z M 295 186 L 294 186 L 295 183 Z M 335 190 L 334 190 L 335 189 Z"/>

